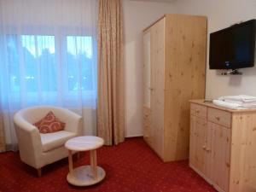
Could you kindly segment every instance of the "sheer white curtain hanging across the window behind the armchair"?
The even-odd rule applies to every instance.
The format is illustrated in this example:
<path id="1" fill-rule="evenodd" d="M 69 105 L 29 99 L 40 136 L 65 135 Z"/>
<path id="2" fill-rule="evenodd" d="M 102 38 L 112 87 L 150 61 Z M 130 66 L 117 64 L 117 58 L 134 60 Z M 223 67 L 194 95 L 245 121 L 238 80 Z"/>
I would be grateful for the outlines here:
<path id="1" fill-rule="evenodd" d="M 96 106 L 96 0 L 0 0 L 0 111 L 15 149 L 13 114 Z"/>

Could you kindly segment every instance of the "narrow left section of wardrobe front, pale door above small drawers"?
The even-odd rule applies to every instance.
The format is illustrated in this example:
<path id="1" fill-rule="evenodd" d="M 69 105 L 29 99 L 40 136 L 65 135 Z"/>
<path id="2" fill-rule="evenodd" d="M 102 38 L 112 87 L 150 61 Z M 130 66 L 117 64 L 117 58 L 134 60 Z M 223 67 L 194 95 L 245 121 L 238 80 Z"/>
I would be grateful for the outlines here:
<path id="1" fill-rule="evenodd" d="M 143 137 L 150 145 L 150 29 L 143 34 Z"/>

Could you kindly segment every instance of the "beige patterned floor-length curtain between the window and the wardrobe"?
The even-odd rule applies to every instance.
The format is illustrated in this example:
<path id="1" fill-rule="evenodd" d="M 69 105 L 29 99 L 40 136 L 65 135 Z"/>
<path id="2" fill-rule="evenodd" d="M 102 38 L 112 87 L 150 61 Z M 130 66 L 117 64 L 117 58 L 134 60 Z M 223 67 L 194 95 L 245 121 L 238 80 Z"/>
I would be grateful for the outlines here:
<path id="1" fill-rule="evenodd" d="M 99 0 L 97 133 L 106 145 L 125 139 L 123 24 L 120 0 Z"/>

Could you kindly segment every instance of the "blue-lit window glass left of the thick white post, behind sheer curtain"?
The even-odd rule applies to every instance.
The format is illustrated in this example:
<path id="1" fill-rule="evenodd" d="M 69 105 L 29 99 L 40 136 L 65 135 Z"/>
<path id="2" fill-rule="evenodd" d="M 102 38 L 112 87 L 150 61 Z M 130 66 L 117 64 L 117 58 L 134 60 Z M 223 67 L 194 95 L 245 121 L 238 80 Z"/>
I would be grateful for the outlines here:
<path id="1" fill-rule="evenodd" d="M 19 92 L 21 84 L 27 92 L 55 91 L 55 37 L 8 35 L 7 41 L 11 92 Z M 44 82 L 44 77 L 50 84 Z"/>

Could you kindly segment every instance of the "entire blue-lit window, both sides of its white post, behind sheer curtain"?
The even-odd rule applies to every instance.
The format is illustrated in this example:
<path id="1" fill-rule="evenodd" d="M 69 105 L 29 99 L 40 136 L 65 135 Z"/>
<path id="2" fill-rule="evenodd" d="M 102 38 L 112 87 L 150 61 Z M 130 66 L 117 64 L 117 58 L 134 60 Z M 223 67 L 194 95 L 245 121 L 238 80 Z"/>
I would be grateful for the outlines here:
<path id="1" fill-rule="evenodd" d="M 64 90 L 94 89 L 93 49 L 90 36 L 7 35 L 9 91 L 56 92 L 58 75 Z M 62 86 L 62 85 L 61 85 Z"/>

